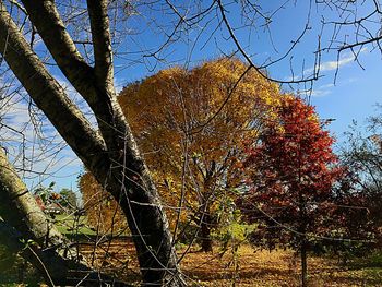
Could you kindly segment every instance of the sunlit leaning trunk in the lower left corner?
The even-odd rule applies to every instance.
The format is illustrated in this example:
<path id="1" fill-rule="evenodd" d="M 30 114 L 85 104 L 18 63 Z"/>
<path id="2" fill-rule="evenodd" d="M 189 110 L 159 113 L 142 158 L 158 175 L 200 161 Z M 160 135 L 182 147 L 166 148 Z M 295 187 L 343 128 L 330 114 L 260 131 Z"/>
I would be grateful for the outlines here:
<path id="1" fill-rule="evenodd" d="M 31 262 L 49 285 L 112 283 L 76 258 L 76 250 L 37 205 L 0 147 L 0 243 Z M 32 241 L 31 241 L 32 240 Z M 32 243 L 31 243 L 32 242 Z"/>

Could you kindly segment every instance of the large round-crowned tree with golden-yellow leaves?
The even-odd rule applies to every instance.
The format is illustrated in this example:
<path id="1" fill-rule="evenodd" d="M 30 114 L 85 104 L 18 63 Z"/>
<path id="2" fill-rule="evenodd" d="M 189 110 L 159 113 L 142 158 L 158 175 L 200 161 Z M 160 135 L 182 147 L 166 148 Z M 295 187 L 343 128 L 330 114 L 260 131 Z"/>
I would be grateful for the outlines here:
<path id="1" fill-rule="evenodd" d="M 235 207 L 246 139 L 256 139 L 279 97 L 278 85 L 227 58 L 160 71 L 120 94 L 175 231 L 179 219 L 195 224 L 203 251 Z"/>

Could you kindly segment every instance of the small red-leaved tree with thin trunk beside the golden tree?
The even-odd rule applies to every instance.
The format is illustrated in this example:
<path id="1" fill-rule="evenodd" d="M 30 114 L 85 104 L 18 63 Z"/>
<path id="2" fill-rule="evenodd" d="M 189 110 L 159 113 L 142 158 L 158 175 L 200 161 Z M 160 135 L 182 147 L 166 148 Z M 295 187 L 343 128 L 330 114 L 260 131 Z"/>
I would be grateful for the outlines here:
<path id="1" fill-rule="evenodd" d="M 259 224 L 252 238 L 258 244 L 300 252 L 306 286 L 307 251 L 313 238 L 327 235 L 336 208 L 332 187 L 344 168 L 337 167 L 334 139 L 313 107 L 286 96 L 275 119 L 265 123 L 260 143 L 248 150 L 244 167 L 251 188 L 239 206 L 244 219 Z"/>

